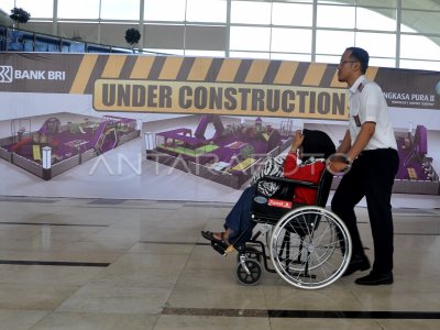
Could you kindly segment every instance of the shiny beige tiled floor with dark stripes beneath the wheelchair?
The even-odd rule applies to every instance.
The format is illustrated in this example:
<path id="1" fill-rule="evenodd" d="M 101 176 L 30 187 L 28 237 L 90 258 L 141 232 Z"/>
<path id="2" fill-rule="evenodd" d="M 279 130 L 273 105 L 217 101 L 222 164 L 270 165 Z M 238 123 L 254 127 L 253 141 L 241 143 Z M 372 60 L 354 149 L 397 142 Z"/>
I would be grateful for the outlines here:
<path id="1" fill-rule="evenodd" d="M 231 205 L 0 198 L 0 329 L 439 329 L 440 210 L 396 209 L 395 284 L 234 277 L 200 237 Z M 358 209 L 365 246 L 366 211 Z M 372 255 L 372 251 L 367 250 Z"/>

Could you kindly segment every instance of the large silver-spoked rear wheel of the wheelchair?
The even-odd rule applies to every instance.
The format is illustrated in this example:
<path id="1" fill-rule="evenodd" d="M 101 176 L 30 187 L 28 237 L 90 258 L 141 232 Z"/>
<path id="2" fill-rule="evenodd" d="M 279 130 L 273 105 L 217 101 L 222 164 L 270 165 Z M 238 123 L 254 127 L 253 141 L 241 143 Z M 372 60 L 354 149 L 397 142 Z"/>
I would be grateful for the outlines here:
<path id="1" fill-rule="evenodd" d="M 351 258 L 351 238 L 334 213 L 317 206 L 285 215 L 274 227 L 271 260 L 287 283 L 318 289 L 336 282 Z"/>

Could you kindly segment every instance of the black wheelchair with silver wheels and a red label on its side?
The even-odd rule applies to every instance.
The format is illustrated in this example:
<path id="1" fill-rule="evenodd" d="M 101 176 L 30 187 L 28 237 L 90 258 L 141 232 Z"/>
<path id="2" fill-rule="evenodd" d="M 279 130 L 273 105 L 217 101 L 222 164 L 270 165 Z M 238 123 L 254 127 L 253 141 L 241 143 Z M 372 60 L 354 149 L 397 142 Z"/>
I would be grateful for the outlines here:
<path id="1" fill-rule="evenodd" d="M 258 189 L 252 201 L 252 221 L 224 248 L 212 242 L 220 254 L 238 251 L 235 275 L 243 285 L 257 285 L 263 266 L 301 289 L 319 289 L 334 283 L 345 272 L 352 253 L 350 233 L 342 220 L 327 210 L 333 175 L 323 170 L 319 184 L 279 177 L 262 177 L 277 190 L 271 197 Z M 295 205 L 295 187 L 317 189 L 316 205 Z M 250 240 L 243 238 L 260 229 Z M 265 235 L 266 240 L 260 238 Z M 272 262 L 272 267 L 268 261 Z"/>

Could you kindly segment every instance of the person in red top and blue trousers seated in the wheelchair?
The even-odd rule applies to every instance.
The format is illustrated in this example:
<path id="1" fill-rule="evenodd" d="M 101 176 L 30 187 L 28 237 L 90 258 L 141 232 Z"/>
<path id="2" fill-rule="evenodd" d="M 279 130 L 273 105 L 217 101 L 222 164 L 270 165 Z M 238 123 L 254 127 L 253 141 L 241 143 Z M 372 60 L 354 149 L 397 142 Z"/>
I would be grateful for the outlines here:
<path id="1" fill-rule="evenodd" d="M 329 135 L 321 131 L 304 130 L 302 133 L 295 133 L 294 142 L 283 165 L 284 177 L 305 180 L 318 184 L 322 172 L 326 168 L 326 158 L 336 153 L 336 147 Z M 302 161 L 298 165 L 297 154 Z M 243 190 L 239 200 L 228 215 L 224 223 L 226 231 L 210 232 L 201 231 L 201 235 L 220 244 L 229 245 L 233 242 L 235 245 L 244 244 L 251 239 L 252 231 L 240 238 L 235 242 L 234 238 L 240 235 L 252 222 L 252 198 L 255 195 L 256 186 L 251 186 Z M 261 191 L 263 193 L 263 191 Z M 295 187 L 295 204 L 314 205 L 317 198 L 317 190 L 307 187 Z"/>

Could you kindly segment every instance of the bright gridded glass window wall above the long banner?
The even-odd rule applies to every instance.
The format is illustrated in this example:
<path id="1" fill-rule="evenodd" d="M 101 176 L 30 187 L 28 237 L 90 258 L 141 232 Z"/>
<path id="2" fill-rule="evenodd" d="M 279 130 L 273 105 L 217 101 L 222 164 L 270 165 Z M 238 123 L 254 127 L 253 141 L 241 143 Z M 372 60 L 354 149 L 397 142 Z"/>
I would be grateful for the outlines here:
<path id="1" fill-rule="evenodd" d="M 435 0 L 2 0 L 31 13 L 24 26 L 87 43 L 140 51 L 338 63 L 348 46 L 371 65 L 440 70 Z M 55 14 L 54 14 L 55 11 Z M 21 28 L 24 28 L 21 26 Z M 19 47 L 20 45 L 16 45 Z"/>

